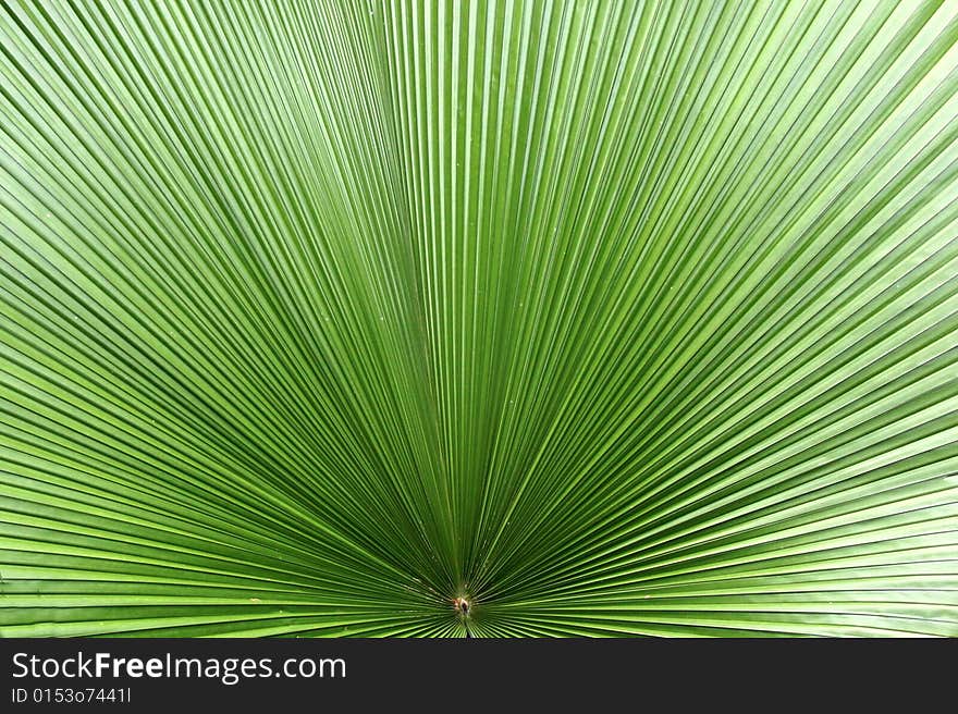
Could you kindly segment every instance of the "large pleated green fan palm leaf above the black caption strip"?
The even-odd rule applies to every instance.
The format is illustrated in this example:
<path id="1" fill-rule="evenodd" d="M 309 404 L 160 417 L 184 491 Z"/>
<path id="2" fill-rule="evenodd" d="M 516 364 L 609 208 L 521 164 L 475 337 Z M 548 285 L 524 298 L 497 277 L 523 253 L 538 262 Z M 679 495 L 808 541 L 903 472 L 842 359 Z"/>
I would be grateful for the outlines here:
<path id="1" fill-rule="evenodd" d="M 0 635 L 958 635 L 958 3 L 0 38 Z"/>

